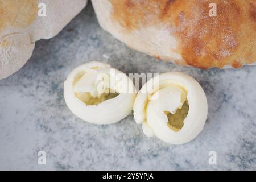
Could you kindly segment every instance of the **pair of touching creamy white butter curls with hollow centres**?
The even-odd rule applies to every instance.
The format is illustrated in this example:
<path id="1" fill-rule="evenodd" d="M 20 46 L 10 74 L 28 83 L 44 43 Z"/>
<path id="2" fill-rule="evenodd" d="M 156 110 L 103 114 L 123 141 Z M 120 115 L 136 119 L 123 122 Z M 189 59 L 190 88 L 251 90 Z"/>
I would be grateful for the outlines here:
<path id="1" fill-rule="evenodd" d="M 109 64 L 92 61 L 73 69 L 64 82 L 67 106 L 80 119 L 112 124 L 133 110 L 144 134 L 170 144 L 196 138 L 207 119 L 207 98 L 191 76 L 157 75 L 136 92 L 133 81 Z"/>

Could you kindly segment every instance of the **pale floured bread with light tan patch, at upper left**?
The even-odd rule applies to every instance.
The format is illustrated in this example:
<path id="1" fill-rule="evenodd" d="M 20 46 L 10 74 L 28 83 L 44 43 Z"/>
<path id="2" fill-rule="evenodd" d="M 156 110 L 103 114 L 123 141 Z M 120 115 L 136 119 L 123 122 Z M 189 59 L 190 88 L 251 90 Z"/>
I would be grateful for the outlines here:
<path id="1" fill-rule="evenodd" d="M 38 16 L 39 3 L 46 16 Z M 87 0 L 0 1 L 0 79 L 18 71 L 30 58 L 39 39 L 57 35 L 85 6 Z"/>

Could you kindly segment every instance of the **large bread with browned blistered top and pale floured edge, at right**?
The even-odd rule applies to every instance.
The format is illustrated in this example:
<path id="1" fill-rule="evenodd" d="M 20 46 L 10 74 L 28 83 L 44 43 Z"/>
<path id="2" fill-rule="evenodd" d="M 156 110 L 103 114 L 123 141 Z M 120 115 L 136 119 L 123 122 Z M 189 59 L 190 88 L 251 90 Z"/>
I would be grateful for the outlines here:
<path id="1" fill-rule="evenodd" d="M 92 0 L 102 28 L 127 46 L 181 65 L 256 61 L 255 0 Z M 217 16 L 209 16 L 210 3 Z"/>

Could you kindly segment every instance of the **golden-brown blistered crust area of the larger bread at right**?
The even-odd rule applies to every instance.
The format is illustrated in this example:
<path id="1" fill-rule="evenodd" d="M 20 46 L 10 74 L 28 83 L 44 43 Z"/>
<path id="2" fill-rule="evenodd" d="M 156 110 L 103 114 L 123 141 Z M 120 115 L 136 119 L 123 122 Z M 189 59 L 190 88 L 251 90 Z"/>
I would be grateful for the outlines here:
<path id="1" fill-rule="evenodd" d="M 167 24 L 170 35 L 179 43 L 175 51 L 193 67 L 240 68 L 256 61 L 255 0 L 110 0 L 110 3 L 112 19 L 128 33 Z M 209 3 L 216 3 L 216 17 L 209 16 Z"/>

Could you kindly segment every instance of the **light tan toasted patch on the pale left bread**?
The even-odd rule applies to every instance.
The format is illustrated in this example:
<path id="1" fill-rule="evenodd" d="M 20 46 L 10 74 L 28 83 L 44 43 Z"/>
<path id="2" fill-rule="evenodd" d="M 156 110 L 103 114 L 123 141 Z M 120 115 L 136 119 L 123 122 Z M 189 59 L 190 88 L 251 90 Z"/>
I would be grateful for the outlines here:
<path id="1" fill-rule="evenodd" d="M 0 33 L 6 28 L 30 26 L 37 13 L 37 0 L 0 0 Z"/>

